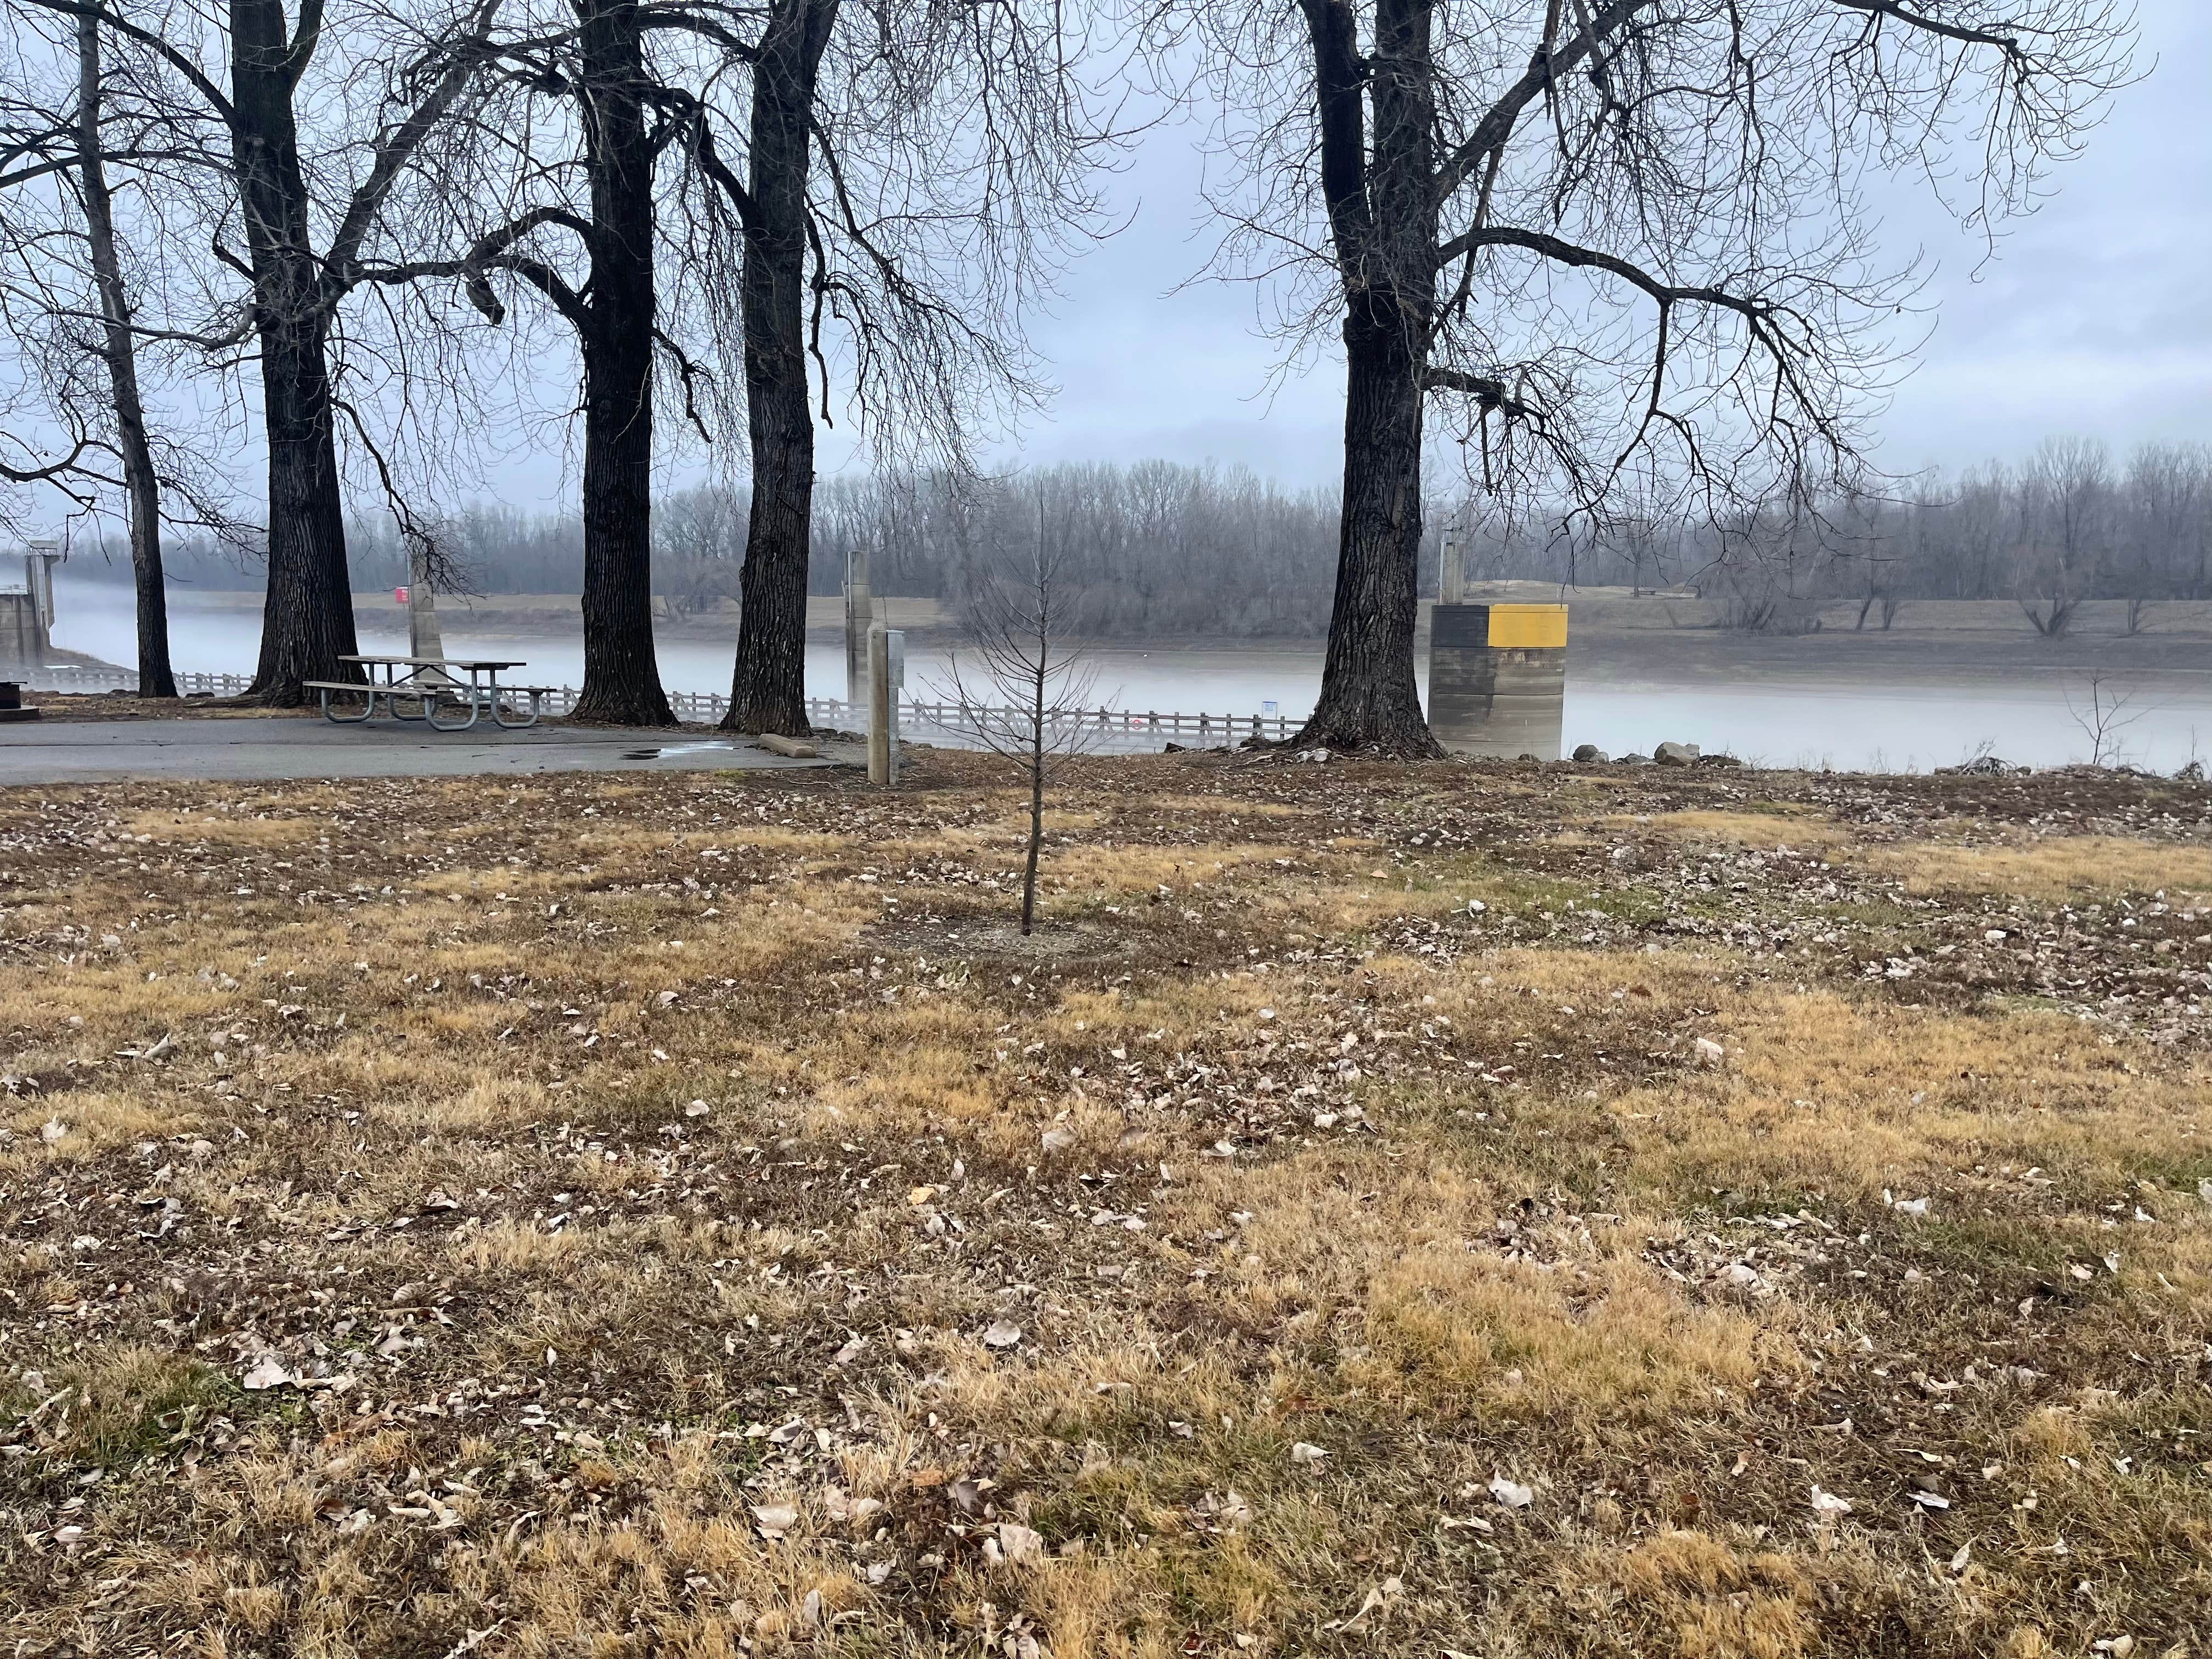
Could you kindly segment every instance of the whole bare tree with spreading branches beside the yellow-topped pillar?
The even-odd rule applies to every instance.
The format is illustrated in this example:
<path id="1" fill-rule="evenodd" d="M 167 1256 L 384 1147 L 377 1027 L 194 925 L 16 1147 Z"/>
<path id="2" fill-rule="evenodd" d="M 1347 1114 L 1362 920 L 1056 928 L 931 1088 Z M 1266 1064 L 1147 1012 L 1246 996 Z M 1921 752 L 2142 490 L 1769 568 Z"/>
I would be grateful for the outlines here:
<path id="1" fill-rule="evenodd" d="M 2112 0 L 1133 0 L 1203 55 L 1241 173 L 1223 265 L 1345 352 L 1321 699 L 1292 741 L 1433 754 L 1413 686 L 1422 438 L 1486 491 L 1739 511 L 1847 478 L 1907 285 L 1858 157 L 2017 204 L 2126 77 Z M 1431 416 L 1429 396 L 1438 398 Z"/>

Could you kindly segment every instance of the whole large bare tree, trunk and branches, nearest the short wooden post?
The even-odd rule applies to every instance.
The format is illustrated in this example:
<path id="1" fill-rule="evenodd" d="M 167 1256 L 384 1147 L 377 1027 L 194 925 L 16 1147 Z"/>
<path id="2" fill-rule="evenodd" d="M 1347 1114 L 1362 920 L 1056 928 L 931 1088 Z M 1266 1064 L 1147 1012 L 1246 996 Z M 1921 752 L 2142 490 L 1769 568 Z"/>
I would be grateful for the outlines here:
<path id="1" fill-rule="evenodd" d="M 768 0 L 741 53 L 743 181 L 701 119 L 741 246 L 752 460 L 730 730 L 807 723 L 810 358 L 823 422 L 834 354 L 876 453 L 956 476 L 978 425 L 1042 396 L 1022 312 L 1095 219 L 1088 164 L 1110 142 L 1082 58 L 1055 0 Z"/>

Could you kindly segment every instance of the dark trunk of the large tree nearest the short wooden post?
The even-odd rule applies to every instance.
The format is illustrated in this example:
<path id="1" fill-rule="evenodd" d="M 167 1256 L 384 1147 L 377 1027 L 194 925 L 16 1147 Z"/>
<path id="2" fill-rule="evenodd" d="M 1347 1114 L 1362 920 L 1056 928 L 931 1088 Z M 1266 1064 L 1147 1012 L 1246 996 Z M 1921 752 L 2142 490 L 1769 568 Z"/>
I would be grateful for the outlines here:
<path id="1" fill-rule="evenodd" d="M 776 0 L 752 71 L 754 212 L 745 221 L 741 307 L 752 520 L 739 575 L 743 615 L 730 675 L 734 732 L 807 730 L 807 542 L 814 529 L 814 416 L 807 411 L 807 144 L 814 82 L 838 0 Z"/>

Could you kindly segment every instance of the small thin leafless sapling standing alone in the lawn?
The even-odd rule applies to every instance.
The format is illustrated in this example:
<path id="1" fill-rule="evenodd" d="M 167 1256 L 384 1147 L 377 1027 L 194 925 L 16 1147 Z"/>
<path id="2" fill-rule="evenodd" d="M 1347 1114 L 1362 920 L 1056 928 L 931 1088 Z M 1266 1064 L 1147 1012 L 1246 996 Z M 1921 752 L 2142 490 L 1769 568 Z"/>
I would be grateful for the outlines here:
<path id="1" fill-rule="evenodd" d="M 1037 854 L 1044 847 L 1044 790 L 1060 763 L 1086 748 L 1084 726 L 1097 670 L 1084 661 L 1079 617 L 1046 546 L 1044 511 L 1026 557 L 1002 562 L 967 604 L 969 666 L 951 653 L 936 699 L 945 726 L 1006 761 L 1029 790 L 1029 849 L 1022 860 L 1022 933 L 1037 914 Z"/>

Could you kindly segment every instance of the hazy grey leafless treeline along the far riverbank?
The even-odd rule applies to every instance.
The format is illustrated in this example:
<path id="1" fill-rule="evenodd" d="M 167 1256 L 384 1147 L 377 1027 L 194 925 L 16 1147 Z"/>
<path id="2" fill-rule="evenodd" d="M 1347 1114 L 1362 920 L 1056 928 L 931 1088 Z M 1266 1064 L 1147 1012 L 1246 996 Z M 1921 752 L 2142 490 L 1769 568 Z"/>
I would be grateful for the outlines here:
<path id="1" fill-rule="evenodd" d="M 1329 619 L 1336 493 L 1287 491 L 1248 469 L 1064 465 L 960 489 L 933 476 L 832 478 L 814 500 L 814 593 L 838 593 L 849 551 L 865 544 L 878 593 L 958 604 L 1042 533 L 1102 635 L 1310 637 Z M 657 502 L 655 588 L 672 608 L 737 599 L 745 515 L 739 489 Z M 2212 597 L 2212 447 L 2146 445 L 2115 460 L 2095 442 L 2053 440 L 2022 465 L 1721 522 L 1621 513 L 1566 531 L 1528 518 L 1500 526 L 1438 500 L 1427 524 L 1422 593 L 1436 591 L 1436 551 L 1453 533 L 1478 582 L 1690 584 L 1741 628 L 1809 626 L 1836 599 L 1856 599 L 1865 626 L 1887 626 L 1911 599 L 2015 599 L 2037 628 L 2064 633 L 2084 599 Z M 478 593 L 582 586 L 573 518 L 471 507 L 445 540 Z M 352 562 L 358 588 L 405 582 L 387 524 L 354 529 Z M 97 573 L 97 557 L 88 564 Z M 128 575 L 122 557 L 108 568 Z M 190 542 L 170 573 L 199 586 L 259 582 L 250 560 Z"/>

